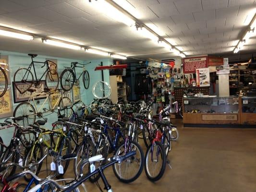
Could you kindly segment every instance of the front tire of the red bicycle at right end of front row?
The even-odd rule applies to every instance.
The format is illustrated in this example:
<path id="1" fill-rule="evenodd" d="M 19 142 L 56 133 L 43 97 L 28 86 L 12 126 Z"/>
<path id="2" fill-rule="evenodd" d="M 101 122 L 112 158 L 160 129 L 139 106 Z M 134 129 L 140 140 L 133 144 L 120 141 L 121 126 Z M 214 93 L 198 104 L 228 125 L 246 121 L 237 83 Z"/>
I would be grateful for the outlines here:
<path id="1" fill-rule="evenodd" d="M 152 148 L 152 145 L 153 145 L 153 148 Z M 160 171 L 159 171 L 159 173 L 156 175 L 156 176 L 153 176 L 152 174 L 151 174 L 151 172 L 149 171 L 149 169 L 148 169 L 148 163 L 149 162 L 152 162 L 151 161 L 151 156 L 153 156 L 152 155 L 152 149 L 154 150 L 154 146 L 157 146 L 157 149 L 160 151 L 160 153 L 161 154 L 159 154 L 160 155 L 160 158 L 162 159 L 162 163 L 161 163 L 161 168 L 160 168 Z M 151 144 L 148 148 L 147 148 L 147 150 L 146 150 L 146 156 L 145 156 L 145 172 L 146 172 L 146 176 L 147 176 L 147 178 L 150 180 L 150 181 L 157 181 L 157 180 L 159 180 L 159 179 L 161 179 L 161 177 L 163 176 L 163 174 L 164 174 L 164 171 L 165 171 L 165 167 L 166 167 L 166 155 L 165 155 L 165 152 L 164 152 L 165 150 L 164 150 L 164 147 L 163 147 L 163 145 L 160 143 L 160 142 L 158 142 L 158 141 L 156 141 L 156 142 L 153 142 L 153 144 Z M 154 152 L 153 152 L 154 153 Z M 159 157 L 158 157 L 159 158 Z M 155 162 L 156 163 L 156 162 Z"/>

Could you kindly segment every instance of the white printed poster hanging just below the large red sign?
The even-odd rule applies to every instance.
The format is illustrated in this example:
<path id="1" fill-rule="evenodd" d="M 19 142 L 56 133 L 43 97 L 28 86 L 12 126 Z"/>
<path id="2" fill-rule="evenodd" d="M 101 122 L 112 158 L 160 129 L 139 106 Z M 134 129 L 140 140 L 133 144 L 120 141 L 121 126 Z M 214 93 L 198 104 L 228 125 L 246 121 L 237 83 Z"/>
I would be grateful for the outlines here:
<path id="1" fill-rule="evenodd" d="M 209 68 L 196 69 L 196 86 L 197 87 L 210 86 Z"/>

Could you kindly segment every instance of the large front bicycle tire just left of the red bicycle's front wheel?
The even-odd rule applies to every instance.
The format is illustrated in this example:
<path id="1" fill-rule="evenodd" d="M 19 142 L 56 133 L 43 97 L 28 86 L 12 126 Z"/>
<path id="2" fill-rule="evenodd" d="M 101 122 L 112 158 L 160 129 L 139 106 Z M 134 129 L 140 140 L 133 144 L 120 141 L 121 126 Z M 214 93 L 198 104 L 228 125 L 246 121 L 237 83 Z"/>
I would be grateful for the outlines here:
<path id="1" fill-rule="evenodd" d="M 143 170 L 143 167 L 144 167 L 144 153 L 143 153 L 143 150 L 141 148 L 141 146 L 134 142 L 134 141 L 129 141 L 127 140 L 126 142 L 122 143 L 118 148 L 117 150 L 115 151 L 114 155 L 124 155 L 130 151 L 132 151 L 133 148 L 131 145 L 134 145 L 134 147 L 136 147 L 135 151 L 136 151 L 136 155 L 138 155 L 138 158 L 135 156 L 132 156 L 132 157 L 129 157 L 129 159 L 126 159 L 125 161 L 122 161 L 122 163 L 118 164 L 118 163 L 115 163 L 112 168 L 113 168 L 113 171 L 114 171 L 114 174 L 115 176 L 118 178 L 118 180 L 124 182 L 124 183 L 130 183 L 130 182 L 133 182 L 134 180 L 136 180 L 142 173 L 142 170 Z M 124 149 L 123 152 L 121 152 L 120 150 L 121 149 Z M 125 150 L 128 150 L 128 151 L 125 151 Z M 137 162 L 138 160 L 138 162 Z M 127 164 L 127 163 L 130 163 L 130 164 L 134 164 L 135 166 L 138 165 L 138 167 L 135 168 L 135 170 L 137 172 L 135 172 L 135 174 L 133 174 L 131 176 L 131 178 L 124 178 L 123 174 L 121 173 L 121 171 L 124 169 L 124 168 L 121 168 L 121 166 L 123 164 Z M 127 171 L 131 171 L 132 168 L 131 168 L 131 165 L 127 166 L 127 165 L 124 165 L 124 167 L 129 167 L 129 170 Z M 124 174 L 126 175 L 126 173 Z"/>

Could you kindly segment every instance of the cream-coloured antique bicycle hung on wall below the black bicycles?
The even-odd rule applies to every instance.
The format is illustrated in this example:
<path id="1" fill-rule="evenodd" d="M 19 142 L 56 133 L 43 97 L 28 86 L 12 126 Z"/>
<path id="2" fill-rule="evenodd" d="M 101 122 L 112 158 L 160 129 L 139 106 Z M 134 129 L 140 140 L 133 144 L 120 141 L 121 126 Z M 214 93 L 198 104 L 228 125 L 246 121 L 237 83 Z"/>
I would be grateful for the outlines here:
<path id="1" fill-rule="evenodd" d="M 45 88 L 45 91 L 42 93 L 33 93 L 35 89 L 28 89 L 31 93 L 28 101 L 22 102 L 14 109 L 13 117 L 23 117 L 23 120 L 17 121 L 22 126 L 29 126 L 29 124 L 33 124 L 36 121 L 36 117 L 42 118 L 44 113 L 54 112 L 57 107 L 65 108 L 72 106 L 72 102 L 69 97 L 62 96 L 61 90 L 58 89 L 55 92 L 49 92 L 49 89 Z M 37 103 L 37 99 L 44 99 L 41 104 Z M 33 105 L 32 105 L 33 104 Z M 49 108 L 46 108 L 49 104 Z M 34 107 L 35 106 L 35 107 Z M 65 108 L 64 114 L 65 117 L 71 116 L 71 109 Z"/>

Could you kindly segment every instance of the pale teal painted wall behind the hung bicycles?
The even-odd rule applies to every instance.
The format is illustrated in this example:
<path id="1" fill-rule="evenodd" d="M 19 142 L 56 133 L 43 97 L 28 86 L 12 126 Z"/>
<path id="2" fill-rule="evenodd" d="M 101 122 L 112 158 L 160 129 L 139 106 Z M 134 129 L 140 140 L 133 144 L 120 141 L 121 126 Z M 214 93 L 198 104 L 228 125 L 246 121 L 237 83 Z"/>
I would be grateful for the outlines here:
<path id="1" fill-rule="evenodd" d="M 31 63 L 31 58 L 27 56 L 27 54 L 23 53 L 17 53 L 17 52 L 9 52 L 9 51 L 0 51 L 1 56 L 8 56 L 9 59 L 9 65 L 10 65 L 10 73 L 11 73 L 11 85 L 10 88 L 12 90 L 12 81 L 13 81 L 13 75 L 18 70 L 20 67 L 27 68 L 28 65 Z M 103 62 L 103 65 L 110 65 L 112 64 L 111 59 L 102 59 L 102 60 L 73 60 L 73 59 L 64 59 L 64 58 L 54 58 L 54 57 L 49 57 L 49 56 L 43 56 L 43 55 L 38 55 L 34 60 L 35 61 L 45 61 L 47 59 L 57 59 L 58 60 L 58 73 L 59 75 L 61 72 L 64 70 L 64 66 L 70 66 L 71 62 L 80 62 L 80 63 L 87 63 L 90 62 L 90 64 L 86 65 L 86 70 L 89 72 L 90 75 L 90 86 L 86 90 L 84 88 L 81 78 L 80 81 L 80 92 L 81 92 L 81 99 L 85 104 L 90 104 L 90 102 L 93 100 L 94 96 L 92 94 L 92 86 L 95 84 L 97 81 L 101 81 L 101 71 L 94 71 L 95 67 L 100 65 L 100 62 Z M 35 64 L 36 67 L 36 72 L 38 75 L 42 75 L 44 70 L 41 69 L 42 64 Z M 45 68 L 44 68 L 45 69 Z M 76 71 L 78 75 L 80 75 L 80 72 L 82 71 L 81 68 L 76 68 Z M 109 70 L 104 70 L 104 81 L 109 83 Z M 34 74 L 33 74 L 34 75 Z M 40 75 L 40 76 L 41 76 Z M 59 87 L 60 84 L 59 84 Z M 71 94 L 72 95 L 72 94 Z M 13 100 L 13 93 L 12 93 L 12 100 Z M 71 99 L 72 100 L 72 99 Z M 43 100 L 41 100 L 43 101 Z M 19 103 L 14 104 L 13 103 L 13 110 Z M 57 114 L 52 113 L 47 116 L 48 118 L 48 123 L 45 125 L 47 128 L 51 128 L 51 123 L 57 120 Z M 5 120 L 6 118 L 0 119 L 0 122 Z M 0 136 L 2 137 L 3 141 L 5 144 L 9 144 L 10 138 L 12 137 L 13 129 L 8 128 L 4 130 L 0 130 Z"/>

